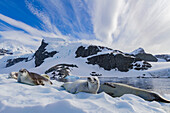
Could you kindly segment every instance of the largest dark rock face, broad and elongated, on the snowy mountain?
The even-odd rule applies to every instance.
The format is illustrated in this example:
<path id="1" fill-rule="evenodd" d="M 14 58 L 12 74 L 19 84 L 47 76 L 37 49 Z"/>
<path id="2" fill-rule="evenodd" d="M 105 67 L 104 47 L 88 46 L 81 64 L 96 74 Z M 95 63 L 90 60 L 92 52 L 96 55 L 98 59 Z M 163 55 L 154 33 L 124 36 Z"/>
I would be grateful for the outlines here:
<path id="1" fill-rule="evenodd" d="M 124 54 L 114 55 L 113 53 L 108 53 L 90 57 L 87 60 L 88 64 L 97 64 L 108 71 L 111 69 L 118 69 L 119 71 L 127 72 L 133 68 L 136 70 L 147 70 L 151 67 L 149 63 L 143 62 L 141 59 Z M 140 61 L 142 65 L 137 61 Z"/>

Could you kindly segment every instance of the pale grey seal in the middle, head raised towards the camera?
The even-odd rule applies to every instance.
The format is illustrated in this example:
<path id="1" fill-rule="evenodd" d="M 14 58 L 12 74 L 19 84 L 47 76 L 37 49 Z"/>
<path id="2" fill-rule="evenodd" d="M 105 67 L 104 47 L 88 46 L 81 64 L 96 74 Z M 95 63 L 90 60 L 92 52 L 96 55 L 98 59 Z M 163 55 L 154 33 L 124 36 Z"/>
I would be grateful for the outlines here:
<path id="1" fill-rule="evenodd" d="M 100 81 L 98 77 L 88 77 L 87 80 L 77 80 L 75 82 L 66 82 L 61 87 L 70 93 L 76 94 L 79 92 L 86 92 L 97 94 Z"/>

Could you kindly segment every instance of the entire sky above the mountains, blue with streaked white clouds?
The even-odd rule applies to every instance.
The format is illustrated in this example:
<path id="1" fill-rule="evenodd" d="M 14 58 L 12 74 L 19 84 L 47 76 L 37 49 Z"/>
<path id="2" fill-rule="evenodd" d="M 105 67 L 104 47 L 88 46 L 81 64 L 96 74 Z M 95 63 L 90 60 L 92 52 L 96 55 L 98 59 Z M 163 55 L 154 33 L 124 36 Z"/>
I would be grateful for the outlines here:
<path id="1" fill-rule="evenodd" d="M 0 0 L 1 39 L 67 37 L 127 52 L 169 53 L 169 31 L 169 0 Z"/>

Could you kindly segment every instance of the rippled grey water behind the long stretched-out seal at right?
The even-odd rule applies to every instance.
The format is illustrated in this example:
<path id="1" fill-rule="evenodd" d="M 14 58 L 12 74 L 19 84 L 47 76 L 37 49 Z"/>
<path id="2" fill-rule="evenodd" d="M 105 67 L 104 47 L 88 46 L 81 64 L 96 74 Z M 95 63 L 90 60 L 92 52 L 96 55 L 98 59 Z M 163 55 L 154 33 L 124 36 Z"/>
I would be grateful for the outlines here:
<path id="1" fill-rule="evenodd" d="M 115 77 L 100 77 L 103 82 L 124 83 L 134 87 L 155 91 L 160 94 L 170 94 L 170 78 L 115 78 Z"/>

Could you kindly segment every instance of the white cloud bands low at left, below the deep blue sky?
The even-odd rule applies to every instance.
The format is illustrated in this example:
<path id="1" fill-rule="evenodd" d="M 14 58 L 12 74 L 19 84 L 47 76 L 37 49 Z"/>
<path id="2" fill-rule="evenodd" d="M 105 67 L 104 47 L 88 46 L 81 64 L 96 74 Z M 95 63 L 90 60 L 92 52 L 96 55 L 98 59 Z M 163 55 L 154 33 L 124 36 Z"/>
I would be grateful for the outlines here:
<path id="1" fill-rule="evenodd" d="M 40 46 L 41 40 L 44 37 L 64 38 L 65 40 L 67 39 L 64 35 L 57 35 L 55 33 L 38 30 L 34 27 L 31 27 L 30 25 L 2 14 L 0 14 L 0 20 L 12 27 L 18 28 L 14 29 L 2 22 L 0 23 L 1 48 L 7 48 L 16 51 L 16 48 L 23 48 L 25 46 L 30 50 L 36 50 Z M 4 46 L 4 43 L 6 47 Z M 9 43 L 9 46 L 7 46 L 7 43 Z"/>

